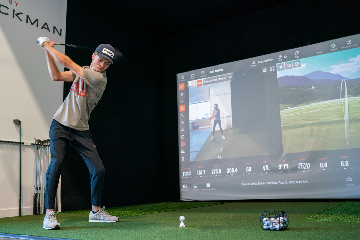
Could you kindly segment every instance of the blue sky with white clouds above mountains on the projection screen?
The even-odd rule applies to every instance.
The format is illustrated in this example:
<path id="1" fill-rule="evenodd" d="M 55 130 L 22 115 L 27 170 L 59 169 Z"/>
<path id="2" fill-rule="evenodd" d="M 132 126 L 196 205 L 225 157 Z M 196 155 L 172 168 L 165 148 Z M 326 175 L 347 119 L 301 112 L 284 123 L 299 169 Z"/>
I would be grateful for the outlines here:
<path id="1" fill-rule="evenodd" d="M 301 67 L 277 71 L 278 77 L 303 76 L 314 71 L 340 74 L 343 77 L 360 77 L 360 47 L 301 58 Z"/>

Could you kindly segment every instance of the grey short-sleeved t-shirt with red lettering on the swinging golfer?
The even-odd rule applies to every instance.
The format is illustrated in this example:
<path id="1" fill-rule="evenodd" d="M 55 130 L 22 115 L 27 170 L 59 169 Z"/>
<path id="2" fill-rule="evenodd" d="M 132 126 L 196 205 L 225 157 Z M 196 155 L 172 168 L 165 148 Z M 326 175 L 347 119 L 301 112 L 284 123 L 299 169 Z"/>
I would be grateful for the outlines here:
<path id="1" fill-rule="evenodd" d="M 107 83 L 106 73 L 83 66 L 84 78 L 72 73 L 74 81 L 69 94 L 55 113 L 54 119 L 76 130 L 89 130 L 91 111 L 100 100 Z"/>

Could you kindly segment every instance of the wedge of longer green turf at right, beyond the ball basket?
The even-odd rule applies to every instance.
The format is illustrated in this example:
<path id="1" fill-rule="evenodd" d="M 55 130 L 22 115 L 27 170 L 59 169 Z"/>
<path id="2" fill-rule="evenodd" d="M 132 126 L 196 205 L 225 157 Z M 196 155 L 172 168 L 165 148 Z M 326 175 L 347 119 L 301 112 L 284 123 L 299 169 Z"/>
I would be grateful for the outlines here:
<path id="1" fill-rule="evenodd" d="M 360 202 L 346 201 L 337 206 L 321 210 L 301 221 L 311 222 L 359 222 L 360 223 Z"/>

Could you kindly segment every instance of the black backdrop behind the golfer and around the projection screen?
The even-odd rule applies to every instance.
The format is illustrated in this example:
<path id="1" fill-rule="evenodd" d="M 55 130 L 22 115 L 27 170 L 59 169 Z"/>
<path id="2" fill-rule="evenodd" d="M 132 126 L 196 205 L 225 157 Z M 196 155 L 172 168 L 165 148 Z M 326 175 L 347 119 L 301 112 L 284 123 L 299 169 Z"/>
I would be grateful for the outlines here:
<path id="1" fill-rule="evenodd" d="M 262 10 L 247 8 L 249 13 L 237 4 L 223 6 L 207 22 L 185 14 L 184 24 L 179 15 L 174 20 L 169 13 L 151 12 L 166 10 L 160 7 L 141 15 L 119 3 L 105 14 L 84 3 L 68 1 L 66 42 L 94 49 L 108 43 L 125 55 L 108 68 L 107 87 L 89 122 L 105 166 L 106 207 L 179 200 L 176 73 L 360 33 L 355 1 L 279 1 Z M 176 5 L 180 1 L 168 10 L 179 14 Z M 92 51 L 65 51 L 79 65 L 91 63 Z M 70 86 L 65 83 L 64 97 Z M 89 176 L 69 146 L 63 211 L 91 208 Z"/>

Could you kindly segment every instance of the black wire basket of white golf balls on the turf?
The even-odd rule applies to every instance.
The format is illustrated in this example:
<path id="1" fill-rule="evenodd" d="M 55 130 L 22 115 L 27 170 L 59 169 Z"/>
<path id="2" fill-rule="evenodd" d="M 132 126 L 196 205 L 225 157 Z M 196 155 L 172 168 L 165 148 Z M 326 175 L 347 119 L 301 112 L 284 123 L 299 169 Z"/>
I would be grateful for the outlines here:
<path id="1" fill-rule="evenodd" d="M 289 212 L 277 210 L 261 212 L 260 225 L 264 230 L 284 230 L 289 226 Z"/>

